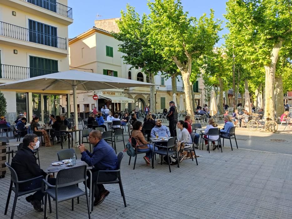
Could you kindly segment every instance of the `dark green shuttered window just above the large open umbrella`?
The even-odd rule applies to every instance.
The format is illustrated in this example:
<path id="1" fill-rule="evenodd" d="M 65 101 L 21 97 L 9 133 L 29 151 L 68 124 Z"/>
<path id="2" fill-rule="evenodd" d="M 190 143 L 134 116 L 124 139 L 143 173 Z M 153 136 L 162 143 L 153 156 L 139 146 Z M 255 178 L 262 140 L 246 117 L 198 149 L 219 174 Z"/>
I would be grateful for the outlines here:
<path id="1" fill-rule="evenodd" d="M 58 61 L 29 56 L 30 77 L 52 74 L 58 72 Z"/>

